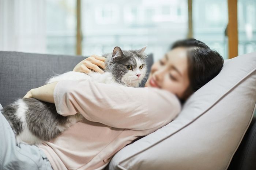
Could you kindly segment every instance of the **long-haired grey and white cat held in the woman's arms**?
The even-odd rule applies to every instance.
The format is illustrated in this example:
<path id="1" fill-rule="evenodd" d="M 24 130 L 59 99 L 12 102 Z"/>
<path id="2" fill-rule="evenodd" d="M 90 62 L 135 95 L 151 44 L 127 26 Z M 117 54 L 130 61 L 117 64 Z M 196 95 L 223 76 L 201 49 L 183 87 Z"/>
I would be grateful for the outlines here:
<path id="1" fill-rule="evenodd" d="M 49 79 L 48 83 L 61 80 L 90 79 L 99 83 L 115 83 L 120 86 L 138 87 L 146 76 L 146 47 L 140 50 L 121 50 L 115 47 L 106 57 L 105 73 L 66 72 Z M 1 110 L 10 123 L 16 141 L 30 145 L 50 141 L 76 122 L 84 119 L 81 114 L 61 116 L 52 103 L 34 98 L 18 99 Z"/>

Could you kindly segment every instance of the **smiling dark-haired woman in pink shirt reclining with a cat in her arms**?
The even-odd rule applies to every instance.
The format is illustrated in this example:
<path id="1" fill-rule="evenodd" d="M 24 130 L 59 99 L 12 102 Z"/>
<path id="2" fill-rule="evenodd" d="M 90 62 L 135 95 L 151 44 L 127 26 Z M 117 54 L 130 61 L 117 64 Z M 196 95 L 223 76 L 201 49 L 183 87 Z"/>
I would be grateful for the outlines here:
<path id="1" fill-rule="evenodd" d="M 74 71 L 102 72 L 95 66 L 104 68 L 104 60 L 93 55 Z M 222 66 L 218 52 L 188 39 L 174 43 L 153 64 L 148 88 L 64 80 L 32 89 L 25 98 L 55 103 L 59 114 L 80 113 L 86 120 L 42 145 L 16 146 L 11 127 L 0 114 L 0 135 L 7 139 L 0 143 L 0 163 L 6 169 L 103 169 L 125 145 L 171 122 L 181 110 L 180 101 L 214 78 Z"/>

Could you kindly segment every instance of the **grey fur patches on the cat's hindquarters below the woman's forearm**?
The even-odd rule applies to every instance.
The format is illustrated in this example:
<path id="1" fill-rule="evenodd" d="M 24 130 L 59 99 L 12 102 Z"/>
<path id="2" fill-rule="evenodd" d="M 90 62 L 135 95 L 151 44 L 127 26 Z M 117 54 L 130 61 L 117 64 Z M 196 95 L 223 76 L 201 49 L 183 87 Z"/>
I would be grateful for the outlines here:
<path id="1" fill-rule="evenodd" d="M 72 117 L 79 118 L 79 115 L 62 116 L 57 113 L 55 104 L 42 102 L 34 98 L 20 99 L 26 105 L 26 126 L 30 132 L 38 139 L 49 141 L 59 136 L 63 130 L 67 129 L 72 122 Z M 10 104 L 1 110 L 2 114 L 10 123 L 10 126 L 18 136 L 26 128 L 16 112 L 20 106 Z M 82 116 L 80 116 L 82 118 Z M 72 122 L 72 123 L 71 123 Z M 26 142 L 26 141 L 25 141 Z M 30 141 L 34 142 L 38 141 Z"/>

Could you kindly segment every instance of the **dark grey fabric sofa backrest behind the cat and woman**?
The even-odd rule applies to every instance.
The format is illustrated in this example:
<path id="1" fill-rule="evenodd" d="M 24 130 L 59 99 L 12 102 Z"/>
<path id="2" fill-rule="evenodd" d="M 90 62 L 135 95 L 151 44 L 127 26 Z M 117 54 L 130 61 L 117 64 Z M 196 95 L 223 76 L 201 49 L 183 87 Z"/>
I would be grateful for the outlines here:
<path id="1" fill-rule="evenodd" d="M 4 107 L 22 98 L 31 88 L 44 85 L 50 76 L 73 70 L 85 58 L 0 51 L 0 103 Z M 147 71 L 152 63 L 153 55 L 149 54 Z"/>

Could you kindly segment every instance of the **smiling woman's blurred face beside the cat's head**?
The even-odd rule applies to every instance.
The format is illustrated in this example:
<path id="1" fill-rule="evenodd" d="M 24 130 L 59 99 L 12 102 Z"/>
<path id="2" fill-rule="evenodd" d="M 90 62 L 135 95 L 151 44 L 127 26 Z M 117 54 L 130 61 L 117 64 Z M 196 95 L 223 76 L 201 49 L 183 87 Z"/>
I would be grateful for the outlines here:
<path id="1" fill-rule="evenodd" d="M 184 99 L 184 92 L 189 86 L 187 52 L 184 47 L 177 47 L 151 67 L 145 87 L 156 87 L 176 94 Z"/>

